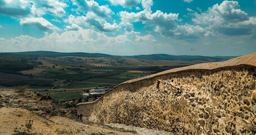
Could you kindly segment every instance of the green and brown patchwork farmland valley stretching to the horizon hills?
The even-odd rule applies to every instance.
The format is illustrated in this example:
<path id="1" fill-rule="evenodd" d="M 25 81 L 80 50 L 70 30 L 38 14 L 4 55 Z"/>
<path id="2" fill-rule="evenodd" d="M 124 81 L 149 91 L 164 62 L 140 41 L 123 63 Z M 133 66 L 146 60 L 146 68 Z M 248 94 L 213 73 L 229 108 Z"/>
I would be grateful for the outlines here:
<path id="1" fill-rule="evenodd" d="M 0 88 L 29 84 L 30 89 L 46 90 L 45 93 L 57 100 L 72 100 L 81 98 L 82 93 L 91 88 L 112 88 L 126 80 L 160 71 L 207 62 L 209 59 L 222 60 L 200 56 L 194 59 L 159 56 L 40 51 L 0 53 Z"/>

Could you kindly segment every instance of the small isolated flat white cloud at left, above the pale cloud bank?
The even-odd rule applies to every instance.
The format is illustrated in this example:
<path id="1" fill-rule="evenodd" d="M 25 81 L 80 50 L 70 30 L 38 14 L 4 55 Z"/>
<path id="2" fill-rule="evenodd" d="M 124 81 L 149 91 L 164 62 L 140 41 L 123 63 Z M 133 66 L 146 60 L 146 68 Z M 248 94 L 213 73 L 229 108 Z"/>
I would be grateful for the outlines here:
<path id="1" fill-rule="evenodd" d="M 48 22 L 42 17 L 30 17 L 20 19 L 20 25 L 32 25 L 36 26 L 38 29 L 41 30 L 59 30 L 59 28 L 52 25 L 51 22 Z"/>

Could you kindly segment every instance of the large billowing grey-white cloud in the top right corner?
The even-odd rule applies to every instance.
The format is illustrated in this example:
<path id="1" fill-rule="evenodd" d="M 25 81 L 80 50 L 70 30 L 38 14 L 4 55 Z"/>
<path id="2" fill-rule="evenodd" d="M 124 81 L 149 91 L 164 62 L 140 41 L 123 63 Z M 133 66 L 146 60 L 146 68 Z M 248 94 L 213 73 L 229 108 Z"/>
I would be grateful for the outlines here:
<path id="1" fill-rule="evenodd" d="M 255 26 L 255 17 L 249 17 L 236 1 L 223 1 L 206 12 L 195 13 L 192 21 L 225 35 L 251 35 Z"/>

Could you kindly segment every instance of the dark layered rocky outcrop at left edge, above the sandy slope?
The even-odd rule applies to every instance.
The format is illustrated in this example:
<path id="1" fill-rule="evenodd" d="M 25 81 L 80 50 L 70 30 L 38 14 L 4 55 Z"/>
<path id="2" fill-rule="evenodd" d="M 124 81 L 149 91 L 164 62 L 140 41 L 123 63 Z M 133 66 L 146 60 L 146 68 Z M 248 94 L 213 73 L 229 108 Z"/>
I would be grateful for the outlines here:
<path id="1" fill-rule="evenodd" d="M 65 116 L 67 111 L 52 103 L 50 96 L 32 92 L 1 91 L 0 107 L 19 107 L 38 115 Z"/>

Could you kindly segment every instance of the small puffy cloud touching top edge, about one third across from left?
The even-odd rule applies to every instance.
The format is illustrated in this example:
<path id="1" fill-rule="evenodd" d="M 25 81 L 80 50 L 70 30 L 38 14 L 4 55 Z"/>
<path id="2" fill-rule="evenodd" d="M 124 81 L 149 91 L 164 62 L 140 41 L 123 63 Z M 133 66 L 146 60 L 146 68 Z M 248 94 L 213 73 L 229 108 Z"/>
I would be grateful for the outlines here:
<path id="1" fill-rule="evenodd" d="M 91 11 L 100 17 L 108 17 L 113 13 L 108 6 L 99 6 L 99 3 L 95 2 L 94 0 L 72 0 L 72 2 L 78 6 L 78 10 L 82 11 L 83 13 Z"/>

